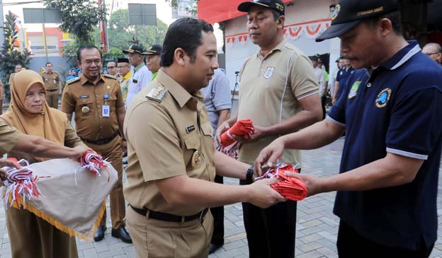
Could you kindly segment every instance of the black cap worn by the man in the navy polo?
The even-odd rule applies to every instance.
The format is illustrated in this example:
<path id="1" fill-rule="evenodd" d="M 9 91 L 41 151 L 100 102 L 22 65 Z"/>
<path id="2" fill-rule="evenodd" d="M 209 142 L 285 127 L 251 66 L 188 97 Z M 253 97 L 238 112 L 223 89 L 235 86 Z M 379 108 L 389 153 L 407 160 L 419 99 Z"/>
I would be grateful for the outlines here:
<path id="1" fill-rule="evenodd" d="M 317 37 L 316 42 L 339 37 L 366 18 L 397 10 L 396 0 L 340 0 L 331 15 L 331 26 Z"/>

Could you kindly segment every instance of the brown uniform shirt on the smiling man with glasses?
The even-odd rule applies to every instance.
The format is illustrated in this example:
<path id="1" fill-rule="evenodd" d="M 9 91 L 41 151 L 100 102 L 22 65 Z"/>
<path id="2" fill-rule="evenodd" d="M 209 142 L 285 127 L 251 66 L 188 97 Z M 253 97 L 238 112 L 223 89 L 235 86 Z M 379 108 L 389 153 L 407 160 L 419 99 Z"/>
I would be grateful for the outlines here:
<path id="1" fill-rule="evenodd" d="M 103 117 L 103 105 L 109 106 L 109 117 Z M 69 81 L 63 91 L 62 111 L 67 114 L 75 112 L 77 134 L 83 139 L 98 141 L 114 136 L 119 130 L 119 107 L 124 107 L 123 96 L 120 84 L 113 76 L 101 76 L 94 85 L 81 75 L 79 79 Z"/>

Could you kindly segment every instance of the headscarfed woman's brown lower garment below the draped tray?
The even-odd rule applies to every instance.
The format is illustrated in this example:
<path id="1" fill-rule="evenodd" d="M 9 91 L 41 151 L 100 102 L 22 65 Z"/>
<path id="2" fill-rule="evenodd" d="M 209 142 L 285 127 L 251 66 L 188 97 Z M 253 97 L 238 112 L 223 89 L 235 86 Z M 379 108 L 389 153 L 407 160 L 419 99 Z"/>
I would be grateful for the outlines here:
<path id="1" fill-rule="evenodd" d="M 77 258 L 75 238 L 28 210 L 7 207 L 12 258 Z"/>

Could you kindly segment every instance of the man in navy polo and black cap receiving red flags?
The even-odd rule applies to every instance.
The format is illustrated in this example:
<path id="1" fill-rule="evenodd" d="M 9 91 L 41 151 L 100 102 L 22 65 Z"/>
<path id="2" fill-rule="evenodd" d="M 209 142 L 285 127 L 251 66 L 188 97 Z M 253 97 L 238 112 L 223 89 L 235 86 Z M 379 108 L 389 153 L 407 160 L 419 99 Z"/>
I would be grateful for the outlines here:
<path id="1" fill-rule="evenodd" d="M 339 2 L 317 40 L 339 36 L 359 70 L 327 119 L 276 139 L 255 163 L 272 166 L 284 148 L 319 148 L 346 130 L 339 175 L 293 175 L 310 196 L 338 191 L 339 257 L 429 257 L 437 237 L 442 68 L 404 40 L 397 10 L 393 0 Z"/>

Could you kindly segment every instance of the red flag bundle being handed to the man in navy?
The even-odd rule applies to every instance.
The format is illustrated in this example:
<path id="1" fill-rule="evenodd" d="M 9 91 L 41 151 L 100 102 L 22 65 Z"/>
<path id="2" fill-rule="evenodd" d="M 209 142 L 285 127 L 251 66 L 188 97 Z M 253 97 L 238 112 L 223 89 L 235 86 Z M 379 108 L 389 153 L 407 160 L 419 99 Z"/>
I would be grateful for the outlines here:
<path id="1" fill-rule="evenodd" d="M 281 177 L 283 180 L 275 184 L 271 184 L 271 187 L 276 190 L 283 197 L 292 200 L 300 201 L 307 197 L 307 187 L 304 182 L 297 179 L 296 177 L 289 177 L 285 175 L 285 172 L 296 172 L 299 171 L 293 168 L 293 165 L 281 164 L 277 168 L 272 168 L 268 170 L 262 177 Z"/>

